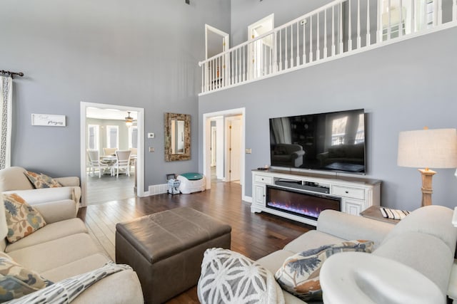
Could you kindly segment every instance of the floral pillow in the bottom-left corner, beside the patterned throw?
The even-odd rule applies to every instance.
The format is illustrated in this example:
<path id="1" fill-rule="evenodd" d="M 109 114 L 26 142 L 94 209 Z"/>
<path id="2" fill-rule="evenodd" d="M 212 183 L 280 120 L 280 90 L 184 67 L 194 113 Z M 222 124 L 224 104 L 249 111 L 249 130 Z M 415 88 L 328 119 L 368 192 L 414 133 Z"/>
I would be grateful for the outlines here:
<path id="1" fill-rule="evenodd" d="M 21 298 L 52 285 L 36 271 L 24 268 L 6 253 L 0 252 L 0 303 Z"/>

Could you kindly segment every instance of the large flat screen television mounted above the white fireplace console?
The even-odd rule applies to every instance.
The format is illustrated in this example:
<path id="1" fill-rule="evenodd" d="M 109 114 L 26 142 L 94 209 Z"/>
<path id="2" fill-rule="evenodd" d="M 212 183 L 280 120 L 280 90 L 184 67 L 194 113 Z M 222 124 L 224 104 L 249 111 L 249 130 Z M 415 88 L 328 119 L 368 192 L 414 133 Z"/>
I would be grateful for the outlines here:
<path id="1" fill-rule="evenodd" d="M 363 109 L 270 118 L 271 167 L 366 173 Z"/>

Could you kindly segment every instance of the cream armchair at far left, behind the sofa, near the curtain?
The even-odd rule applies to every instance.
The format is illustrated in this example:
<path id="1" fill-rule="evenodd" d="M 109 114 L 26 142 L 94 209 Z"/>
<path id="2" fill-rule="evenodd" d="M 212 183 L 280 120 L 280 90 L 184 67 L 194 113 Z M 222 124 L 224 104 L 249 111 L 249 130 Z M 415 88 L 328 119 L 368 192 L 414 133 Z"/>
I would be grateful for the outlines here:
<path id="1" fill-rule="evenodd" d="M 64 187 L 35 189 L 24 172 L 26 169 L 22 167 L 1 169 L 0 192 L 16 193 L 31 205 L 72 199 L 76 202 L 76 208 L 79 208 L 79 199 L 81 199 L 79 177 L 54 178 Z"/>

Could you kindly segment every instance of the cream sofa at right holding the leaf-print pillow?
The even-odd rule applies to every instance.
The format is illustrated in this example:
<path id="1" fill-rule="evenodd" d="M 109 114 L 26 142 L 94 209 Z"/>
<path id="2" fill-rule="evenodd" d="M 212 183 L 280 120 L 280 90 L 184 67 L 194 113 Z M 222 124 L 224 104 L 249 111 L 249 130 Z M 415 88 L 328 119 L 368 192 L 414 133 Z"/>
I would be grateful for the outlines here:
<path id="1" fill-rule="evenodd" d="M 421 273 L 417 276 L 422 275 L 428 279 L 425 279 L 426 281 L 431 281 L 439 289 L 441 295 L 446 298 L 451 268 L 455 268 L 453 262 L 457 241 L 457 228 L 451 224 L 452 216 L 453 211 L 446 207 L 425 206 L 413 211 L 405 219 L 394 225 L 361 216 L 326 210 L 319 216 L 316 230 L 306 232 L 298 239 L 288 243 L 283 249 L 260 258 L 257 262 L 271 273 L 276 273 L 283 261 L 295 253 L 326 244 L 340 243 L 344 240 L 366 239 L 374 241 L 375 250 L 371 253 L 373 256 L 387 258 L 408 268 L 413 268 L 413 270 Z M 336 258 L 339 254 L 334 257 Z M 325 267 L 326 264 L 323 263 L 323 265 Z M 395 271 L 391 273 L 391 276 L 396 276 Z M 389 286 L 389 282 L 384 283 L 384 285 L 388 285 L 385 290 L 395 290 L 395 285 Z M 325 298 L 326 289 L 324 287 Z M 365 290 L 358 288 L 358 291 L 364 292 Z M 286 303 L 304 303 L 284 290 L 283 295 Z M 341 301 L 341 298 L 339 298 L 340 303 L 345 303 Z M 384 301 L 383 303 L 393 302 Z"/>

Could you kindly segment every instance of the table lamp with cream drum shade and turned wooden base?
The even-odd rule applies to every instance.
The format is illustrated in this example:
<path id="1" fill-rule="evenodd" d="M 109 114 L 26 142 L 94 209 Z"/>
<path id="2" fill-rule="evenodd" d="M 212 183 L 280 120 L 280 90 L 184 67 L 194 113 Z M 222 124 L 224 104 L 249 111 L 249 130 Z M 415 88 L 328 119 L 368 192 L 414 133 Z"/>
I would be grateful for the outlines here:
<path id="1" fill-rule="evenodd" d="M 398 136 L 398 166 L 425 167 L 422 174 L 422 206 L 431 205 L 433 168 L 457 167 L 457 130 L 434 129 L 400 132 Z"/>

